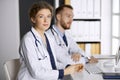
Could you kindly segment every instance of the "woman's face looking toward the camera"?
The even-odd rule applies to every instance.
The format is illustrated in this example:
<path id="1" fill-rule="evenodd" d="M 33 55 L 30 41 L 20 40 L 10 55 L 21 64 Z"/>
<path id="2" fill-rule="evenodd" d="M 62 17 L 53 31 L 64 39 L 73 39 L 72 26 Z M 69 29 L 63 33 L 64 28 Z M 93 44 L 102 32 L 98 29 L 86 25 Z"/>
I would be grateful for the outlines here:
<path id="1" fill-rule="evenodd" d="M 32 22 L 35 24 L 35 28 L 45 31 L 50 27 L 52 14 L 49 9 L 41 9 L 36 14 L 35 18 L 32 18 Z"/>

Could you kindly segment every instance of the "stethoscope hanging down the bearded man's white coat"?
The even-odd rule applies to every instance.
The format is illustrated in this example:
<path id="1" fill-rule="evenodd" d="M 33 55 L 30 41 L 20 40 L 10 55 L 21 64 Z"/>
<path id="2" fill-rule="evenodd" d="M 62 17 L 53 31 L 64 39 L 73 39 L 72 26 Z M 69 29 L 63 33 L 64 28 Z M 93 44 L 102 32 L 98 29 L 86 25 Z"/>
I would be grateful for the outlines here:
<path id="1" fill-rule="evenodd" d="M 54 27 L 51 27 L 51 32 L 52 32 L 52 34 L 53 34 L 53 36 L 54 36 L 54 38 L 55 38 L 56 43 L 57 43 L 60 47 L 63 47 L 63 48 L 67 47 L 67 46 L 63 43 L 63 41 L 60 39 L 59 34 L 58 34 L 57 31 L 54 29 Z"/>

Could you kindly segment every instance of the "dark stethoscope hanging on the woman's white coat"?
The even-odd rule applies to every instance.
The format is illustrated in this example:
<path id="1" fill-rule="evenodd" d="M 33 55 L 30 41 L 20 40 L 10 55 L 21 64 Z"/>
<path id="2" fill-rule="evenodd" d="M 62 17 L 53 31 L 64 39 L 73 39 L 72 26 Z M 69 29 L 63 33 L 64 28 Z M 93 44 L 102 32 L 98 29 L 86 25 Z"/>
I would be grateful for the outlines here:
<path id="1" fill-rule="evenodd" d="M 36 52 L 36 53 L 37 53 L 38 60 L 44 60 L 47 56 L 45 56 L 43 49 L 41 49 L 42 51 L 39 50 L 39 47 L 38 47 L 37 42 L 38 42 L 40 45 L 42 45 L 42 44 L 41 44 L 40 41 L 36 38 L 36 36 L 35 36 L 35 34 L 33 33 L 33 31 L 32 31 L 32 30 L 30 30 L 30 31 L 31 31 L 34 39 L 35 39 L 35 45 L 36 45 L 36 47 L 37 47 L 38 52 L 41 53 L 41 54 L 43 53 L 42 58 L 40 58 L 40 57 L 38 56 L 38 52 Z"/>

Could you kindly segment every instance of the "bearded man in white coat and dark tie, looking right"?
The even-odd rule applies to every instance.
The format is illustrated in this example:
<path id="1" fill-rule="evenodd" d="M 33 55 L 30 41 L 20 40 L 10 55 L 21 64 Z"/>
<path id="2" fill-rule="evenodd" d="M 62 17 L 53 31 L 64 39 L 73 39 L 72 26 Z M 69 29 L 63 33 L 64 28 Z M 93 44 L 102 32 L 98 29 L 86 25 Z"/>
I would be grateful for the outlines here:
<path id="1" fill-rule="evenodd" d="M 65 30 L 70 29 L 73 21 L 73 8 L 70 5 L 59 6 L 55 11 L 56 23 L 47 32 L 53 35 L 56 43 L 57 61 L 63 65 L 86 62 L 98 62 L 93 56 L 87 56 Z"/>

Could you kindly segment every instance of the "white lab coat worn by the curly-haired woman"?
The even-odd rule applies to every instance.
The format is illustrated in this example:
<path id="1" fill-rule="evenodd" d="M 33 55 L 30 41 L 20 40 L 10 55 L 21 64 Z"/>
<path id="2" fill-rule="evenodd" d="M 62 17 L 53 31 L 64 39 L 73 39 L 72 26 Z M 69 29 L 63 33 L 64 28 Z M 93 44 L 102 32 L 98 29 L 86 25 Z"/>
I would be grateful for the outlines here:
<path id="1" fill-rule="evenodd" d="M 17 80 L 58 80 L 59 71 L 52 70 L 50 57 L 41 40 L 41 37 L 34 28 L 32 28 L 32 31 L 36 38 L 40 41 L 40 43 L 37 42 L 40 51 L 38 51 L 35 45 L 35 38 L 29 31 L 22 39 L 20 45 L 19 52 L 21 67 Z M 53 40 L 49 37 L 49 34 L 47 34 L 47 38 L 50 42 L 56 62 Z M 45 56 L 47 57 L 44 58 Z M 41 58 L 42 60 L 38 60 L 38 58 Z"/>

